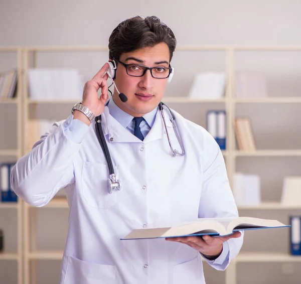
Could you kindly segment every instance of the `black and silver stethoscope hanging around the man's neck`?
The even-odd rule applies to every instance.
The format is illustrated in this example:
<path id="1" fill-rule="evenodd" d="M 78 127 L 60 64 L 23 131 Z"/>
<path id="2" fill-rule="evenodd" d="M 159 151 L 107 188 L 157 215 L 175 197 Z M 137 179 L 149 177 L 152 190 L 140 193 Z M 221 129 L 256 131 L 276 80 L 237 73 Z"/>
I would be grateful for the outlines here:
<path id="1" fill-rule="evenodd" d="M 164 106 L 166 107 L 166 110 L 167 110 L 168 115 L 169 115 L 169 119 L 171 120 L 171 122 L 173 124 L 173 128 L 174 128 L 175 134 L 177 136 L 178 142 L 180 144 L 182 153 L 180 153 L 178 150 L 174 149 L 173 146 L 172 146 L 172 142 L 171 142 L 170 135 L 169 135 L 169 132 L 167 130 L 167 125 L 166 125 L 166 121 L 165 121 Z M 166 134 L 167 134 L 168 143 L 170 145 L 173 157 L 175 157 L 177 155 L 184 156 L 185 155 L 185 150 L 184 150 L 184 146 L 183 146 L 182 139 L 180 137 L 177 125 L 175 123 L 176 119 L 175 119 L 174 114 L 172 113 L 170 108 L 163 102 L 159 103 L 159 111 L 161 112 L 162 120 L 163 120 L 164 127 L 165 127 Z M 108 192 L 111 194 L 113 190 L 121 190 L 121 182 L 120 182 L 120 180 L 116 179 L 116 176 L 115 176 L 115 173 L 114 173 L 112 159 L 111 159 L 110 152 L 108 150 L 108 146 L 106 144 L 105 137 L 104 137 L 103 130 L 102 130 L 102 126 L 101 126 L 101 115 L 95 117 L 95 130 L 96 130 L 96 136 L 97 136 L 97 139 L 99 141 L 100 147 L 103 151 L 106 162 L 108 164 L 108 168 L 109 168 Z"/>

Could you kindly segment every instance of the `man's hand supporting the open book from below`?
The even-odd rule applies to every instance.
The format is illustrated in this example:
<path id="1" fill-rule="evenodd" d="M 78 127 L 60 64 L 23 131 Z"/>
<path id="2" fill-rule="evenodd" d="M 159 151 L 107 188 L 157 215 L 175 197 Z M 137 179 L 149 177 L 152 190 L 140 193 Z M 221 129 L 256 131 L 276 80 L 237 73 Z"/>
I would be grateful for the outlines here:
<path id="1" fill-rule="evenodd" d="M 191 236 L 191 237 L 177 237 L 177 238 L 166 238 L 168 241 L 176 241 L 187 244 L 192 248 L 198 250 L 205 257 L 209 259 L 217 258 L 223 250 L 223 242 L 231 238 L 239 238 L 240 232 L 234 232 L 231 235 L 225 237 L 211 237 L 210 235 L 204 236 Z"/>

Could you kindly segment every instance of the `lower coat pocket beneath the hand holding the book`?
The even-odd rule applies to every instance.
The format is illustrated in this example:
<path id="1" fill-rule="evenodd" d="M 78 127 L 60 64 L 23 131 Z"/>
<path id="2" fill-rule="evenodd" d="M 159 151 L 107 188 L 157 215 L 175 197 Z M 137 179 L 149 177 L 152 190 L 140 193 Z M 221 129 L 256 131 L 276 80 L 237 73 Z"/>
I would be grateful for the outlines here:
<path id="1" fill-rule="evenodd" d="M 173 276 L 174 281 L 173 284 L 199 284 L 202 282 L 202 261 L 200 257 L 197 255 L 195 258 L 188 260 L 186 262 L 177 264 L 174 266 Z"/>

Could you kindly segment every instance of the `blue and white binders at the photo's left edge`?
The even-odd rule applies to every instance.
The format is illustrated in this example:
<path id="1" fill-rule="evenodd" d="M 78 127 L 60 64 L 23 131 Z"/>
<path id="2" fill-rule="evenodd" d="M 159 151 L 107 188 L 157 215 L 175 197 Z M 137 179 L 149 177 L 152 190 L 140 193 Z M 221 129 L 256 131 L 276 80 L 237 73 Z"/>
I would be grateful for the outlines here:
<path id="1" fill-rule="evenodd" d="M 18 197 L 11 187 L 11 170 L 15 163 L 0 164 L 0 191 L 1 202 L 17 202 Z"/>

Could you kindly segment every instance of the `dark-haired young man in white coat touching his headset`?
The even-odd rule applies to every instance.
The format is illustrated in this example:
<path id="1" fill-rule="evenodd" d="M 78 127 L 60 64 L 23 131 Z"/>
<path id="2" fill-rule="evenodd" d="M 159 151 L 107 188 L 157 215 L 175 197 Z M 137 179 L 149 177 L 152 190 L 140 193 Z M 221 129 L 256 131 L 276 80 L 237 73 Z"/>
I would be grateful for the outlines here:
<path id="1" fill-rule="evenodd" d="M 156 17 L 120 23 L 109 39 L 118 90 L 108 98 L 106 63 L 85 84 L 81 105 L 42 136 L 13 169 L 15 192 L 33 206 L 44 206 L 61 188 L 66 190 L 70 215 L 60 284 L 200 284 L 205 283 L 202 257 L 224 270 L 241 248 L 240 232 L 227 237 L 120 240 L 132 229 L 238 216 L 214 138 L 174 110 L 185 155 L 172 155 L 158 105 L 171 76 L 175 47 L 173 32 Z M 164 112 L 172 145 L 181 153 Z M 91 119 L 91 113 L 101 115 L 101 122 Z M 97 123 L 122 185 L 111 193 Z"/>

